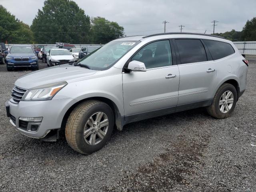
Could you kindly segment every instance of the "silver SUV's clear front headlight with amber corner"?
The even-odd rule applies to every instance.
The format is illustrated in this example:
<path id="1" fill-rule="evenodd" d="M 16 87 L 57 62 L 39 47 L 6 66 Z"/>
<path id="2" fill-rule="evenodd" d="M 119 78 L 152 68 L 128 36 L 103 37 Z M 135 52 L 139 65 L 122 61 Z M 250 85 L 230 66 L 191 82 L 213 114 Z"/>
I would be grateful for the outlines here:
<path id="1" fill-rule="evenodd" d="M 26 91 L 22 101 L 51 100 L 67 84 L 66 81 L 62 81 L 31 88 Z"/>

